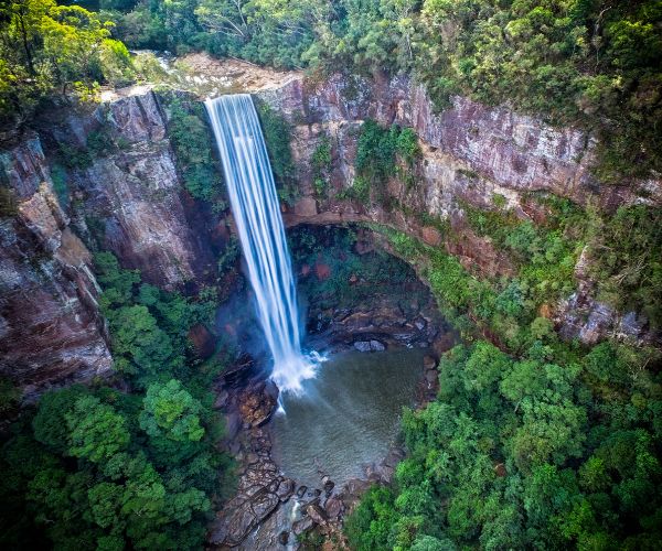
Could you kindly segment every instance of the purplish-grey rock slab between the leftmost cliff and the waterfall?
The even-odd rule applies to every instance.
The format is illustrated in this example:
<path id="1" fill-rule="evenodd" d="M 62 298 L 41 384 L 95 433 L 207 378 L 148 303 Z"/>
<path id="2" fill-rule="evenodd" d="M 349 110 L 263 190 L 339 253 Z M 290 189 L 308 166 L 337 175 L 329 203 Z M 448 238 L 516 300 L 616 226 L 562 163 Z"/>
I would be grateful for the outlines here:
<path id="1" fill-rule="evenodd" d="M 58 144 L 84 148 L 93 132 L 114 147 L 89 166 L 71 171 L 78 203 L 75 225 L 95 234 L 125 268 L 173 290 L 209 277 L 213 256 L 197 206 L 185 193 L 156 94 L 129 96 L 99 107 L 92 120 L 70 117 L 52 130 Z M 90 227 L 92 226 L 92 227 Z"/>

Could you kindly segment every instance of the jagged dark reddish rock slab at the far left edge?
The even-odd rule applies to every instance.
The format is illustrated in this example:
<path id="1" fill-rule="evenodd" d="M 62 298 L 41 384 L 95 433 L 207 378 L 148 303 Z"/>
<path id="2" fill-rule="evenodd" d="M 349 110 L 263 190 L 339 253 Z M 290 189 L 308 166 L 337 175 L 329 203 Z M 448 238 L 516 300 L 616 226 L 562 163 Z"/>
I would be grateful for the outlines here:
<path id="1" fill-rule="evenodd" d="M 0 164 L 14 191 L 0 218 L 0 372 L 31 399 L 107 374 L 111 358 L 92 256 L 68 228 L 39 139 L 4 152 Z"/>

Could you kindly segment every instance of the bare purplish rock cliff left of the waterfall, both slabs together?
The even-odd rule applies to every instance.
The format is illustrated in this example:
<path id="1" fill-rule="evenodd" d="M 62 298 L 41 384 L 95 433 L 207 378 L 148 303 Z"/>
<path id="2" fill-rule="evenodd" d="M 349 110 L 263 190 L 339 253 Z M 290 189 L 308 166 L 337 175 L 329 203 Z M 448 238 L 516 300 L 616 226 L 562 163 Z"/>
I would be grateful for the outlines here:
<path id="1" fill-rule="evenodd" d="M 103 147 L 72 162 L 99 137 Z M 164 289 L 210 278 L 207 220 L 183 188 L 153 93 L 68 114 L 1 151 L 0 164 L 0 372 L 25 398 L 110 372 L 85 244 Z"/>

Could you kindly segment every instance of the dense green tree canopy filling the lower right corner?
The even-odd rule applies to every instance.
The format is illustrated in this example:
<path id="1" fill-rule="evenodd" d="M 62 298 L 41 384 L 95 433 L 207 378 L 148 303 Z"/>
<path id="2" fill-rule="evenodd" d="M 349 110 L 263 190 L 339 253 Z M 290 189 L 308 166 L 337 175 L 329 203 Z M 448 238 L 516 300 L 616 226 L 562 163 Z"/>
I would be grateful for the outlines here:
<path id="1" fill-rule="evenodd" d="M 394 490 L 373 489 L 348 521 L 353 547 L 660 547 L 660 377 L 631 368 L 610 344 L 576 363 L 544 339 L 520 359 L 453 348 L 437 401 L 405 414 Z"/>

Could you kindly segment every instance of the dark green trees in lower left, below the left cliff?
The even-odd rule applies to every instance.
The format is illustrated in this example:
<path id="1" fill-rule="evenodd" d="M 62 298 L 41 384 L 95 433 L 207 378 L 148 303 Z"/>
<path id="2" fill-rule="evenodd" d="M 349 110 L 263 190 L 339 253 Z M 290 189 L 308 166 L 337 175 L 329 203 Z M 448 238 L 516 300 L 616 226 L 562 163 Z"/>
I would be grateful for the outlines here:
<path id="1" fill-rule="evenodd" d="M 209 391 L 218 360 L 188 352 L 186 333 L 215 309 L 140 283 L 96 257 L 124 387 L 45 393 L 12 426 L 0 457 L 6 549 L 200 549 L 228 458 Z"/>

